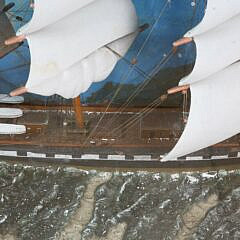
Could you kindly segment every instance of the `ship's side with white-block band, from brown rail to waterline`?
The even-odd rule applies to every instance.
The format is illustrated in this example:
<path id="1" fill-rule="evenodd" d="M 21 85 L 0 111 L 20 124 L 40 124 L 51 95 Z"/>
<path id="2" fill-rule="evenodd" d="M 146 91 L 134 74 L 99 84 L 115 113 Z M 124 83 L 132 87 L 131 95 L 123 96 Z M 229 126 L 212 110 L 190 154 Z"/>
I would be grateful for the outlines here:
<path id="1" fill-rule="evenodd" d="M 24 164 L 47 164 L 87 167 L 90 169 L 141 169 L 147 171 L 198 171 L 201 169 L 236 169 L 240 167 L 240 148 L 215 146 L 198 154 L 161 161 L 164 148 L 120 147 L 53 147 L 36 145 L 3 145 L 0 159 Z M 227 153 L 228 152 L 228 153 Z"/>

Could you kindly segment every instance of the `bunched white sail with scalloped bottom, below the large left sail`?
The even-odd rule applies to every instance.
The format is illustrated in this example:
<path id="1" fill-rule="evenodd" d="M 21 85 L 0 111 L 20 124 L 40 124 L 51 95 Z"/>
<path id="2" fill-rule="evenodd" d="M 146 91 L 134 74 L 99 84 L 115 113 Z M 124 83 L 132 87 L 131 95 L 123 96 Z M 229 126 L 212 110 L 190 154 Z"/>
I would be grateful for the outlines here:
<path id="1" fill-rule="evenodd" d="M 124 56 L 135 37 L 136 33 L 130 34 L 107 47 Z M 41 82 L 28 80 L 26 87 L 29 92 L 44 96 L 58 94 L 64 98 L 74 98 L 85 92 L 93 82 L 106 79 L 119 59 L 113 51 L 102 47 L 56 77 Z"/>

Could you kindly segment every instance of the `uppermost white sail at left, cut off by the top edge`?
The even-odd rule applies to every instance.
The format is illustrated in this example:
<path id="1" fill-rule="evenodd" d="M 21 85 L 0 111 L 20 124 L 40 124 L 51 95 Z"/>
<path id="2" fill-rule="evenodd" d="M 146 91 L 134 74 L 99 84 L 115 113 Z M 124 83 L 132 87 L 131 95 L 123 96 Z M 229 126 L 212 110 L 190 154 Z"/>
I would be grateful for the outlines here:
<path id="1" fill-rule="evenodd" d="M 31 21 L 17 35 L 38 31 L 96 0 L 36 0 Z"/>

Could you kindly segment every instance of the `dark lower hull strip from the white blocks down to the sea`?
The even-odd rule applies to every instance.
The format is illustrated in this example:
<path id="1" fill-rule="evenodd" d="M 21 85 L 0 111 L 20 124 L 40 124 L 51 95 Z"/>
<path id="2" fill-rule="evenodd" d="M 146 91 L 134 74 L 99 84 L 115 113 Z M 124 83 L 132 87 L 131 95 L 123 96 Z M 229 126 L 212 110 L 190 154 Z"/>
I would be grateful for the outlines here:
<path id="1" fill-rule="evenodd" d="M 7 154 L 6 154 L 7 153 Z M 9 156 L 15 155 L 14 151 L 6 152 L 0 151 L 0 159 L 2 161 L 18 162 L 27 165 L 55 165 L 55 166 L 74 166 L 80 168 L 90 169 L 105 169 L 105 170 L 146 170 L 146 171 L 201 171 L 201 170 L 217 170 L 217 169 L 238 169 L 240 168 L 239 157 L 226 157 L 214 159 L 181 159 L 161 162 L 159 159 L 144 160 L 143 157 L 139 159 L 94 159 L 91 155 L 85 155 L 82 158 L 71 158 L 71 155 L 57 155 L 57 157 L 45 157 L 43 153 L 24 153 L 27 156 Z M 93 156 L 92 156 L 93 157 Z M 148 156 L 146 156 L 148 158 Z"/>

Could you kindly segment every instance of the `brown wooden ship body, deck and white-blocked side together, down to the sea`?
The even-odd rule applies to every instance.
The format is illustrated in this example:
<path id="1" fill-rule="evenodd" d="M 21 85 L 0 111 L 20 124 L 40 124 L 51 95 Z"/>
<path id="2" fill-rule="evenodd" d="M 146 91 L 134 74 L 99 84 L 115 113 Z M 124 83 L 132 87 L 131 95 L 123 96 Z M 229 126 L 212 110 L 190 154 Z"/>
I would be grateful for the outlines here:
<path id="1" fill-rule="evenodd" d="M 32 107 L 23 105 L 21 108 L 24 115 L 16 123 L 26 125 L 27 132 L 0 136 L 2 160 L 92 169 L 149 170 L 236 166 L 240 162 L 238 136 L 188 157 L 161 161 L 176 144 L 184 128 L 181 109 L 159 108 L 139 118 L 142 110 L 139 108 L 128 108 L 121 114 L 110 108 L 104 114 L 104 107 L 84 106 L 85 127 L 82 128 L 75 119 L 76 113 L 68 106 L 30 110 Z M 124 123 L 133 117 L 138 121 L 126 131 Z M 112 131 L 120 125 L 123 127 Z M 94 131 L 96 126 L 97 131 Z"/>

